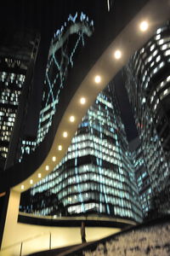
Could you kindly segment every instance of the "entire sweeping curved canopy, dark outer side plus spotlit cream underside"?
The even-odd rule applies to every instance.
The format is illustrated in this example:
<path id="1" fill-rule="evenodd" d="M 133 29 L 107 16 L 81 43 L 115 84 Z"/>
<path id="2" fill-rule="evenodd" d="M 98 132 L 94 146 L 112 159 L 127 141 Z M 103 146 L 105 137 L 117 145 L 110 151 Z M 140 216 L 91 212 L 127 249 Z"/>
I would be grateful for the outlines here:
<path id="1" fill-rule="evenodd" d="M 169 19 L 168 0 L 118 2 L 120 6 L 117 5 L 115 11 L 101 20 L 69 73 L 68 86 L 61 93 L 59 113 L 54 115 L 47 137 L 35 152 L 0 174 L 1 192 L 9 188 L 16 191 L 29 189 L 53 171 L 65 155 L 78 124 L 99 92 L 109 84 L 135 50 L 152 36 L 156 28 Z M 127 9 L 123 16 L 122 6 Z M 142 23 L 140 27 L 143 21 L 147 23 Z M 80 102 L 82 97 L 86 100 L 84 104 Z M 71 116 L 74 117 L 72 122 Z M 67 137 L 63 134 L 65 131 Z"/>

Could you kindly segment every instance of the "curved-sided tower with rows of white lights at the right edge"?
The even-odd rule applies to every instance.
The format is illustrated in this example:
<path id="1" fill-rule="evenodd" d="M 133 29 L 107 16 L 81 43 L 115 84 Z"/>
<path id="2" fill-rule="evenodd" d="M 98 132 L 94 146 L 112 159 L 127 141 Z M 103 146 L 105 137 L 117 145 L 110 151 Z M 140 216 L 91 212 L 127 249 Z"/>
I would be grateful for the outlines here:
<path id="1" fill-rule="evenodd" d="M 170 210 L 166 202 L 170 188 L 169 67 L 170 25 L 167 21 L 133 55 L 126 67 L 127 93 L 133 106 L 155 207 L 160 213 Z"/>

